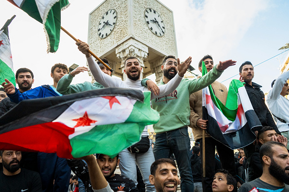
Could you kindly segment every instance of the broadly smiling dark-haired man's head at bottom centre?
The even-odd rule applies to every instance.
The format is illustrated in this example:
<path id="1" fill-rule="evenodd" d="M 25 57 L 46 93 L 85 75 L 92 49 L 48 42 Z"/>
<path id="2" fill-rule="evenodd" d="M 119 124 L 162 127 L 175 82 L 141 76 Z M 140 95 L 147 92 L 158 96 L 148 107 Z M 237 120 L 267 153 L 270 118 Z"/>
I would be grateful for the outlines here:
<path id="1" fill-rule="evenodd" d="M 177 192 L 180 180 L 175 161 L 159 159 L 150 167 L 149 181 L 155 186 L 156 192 Z"/>

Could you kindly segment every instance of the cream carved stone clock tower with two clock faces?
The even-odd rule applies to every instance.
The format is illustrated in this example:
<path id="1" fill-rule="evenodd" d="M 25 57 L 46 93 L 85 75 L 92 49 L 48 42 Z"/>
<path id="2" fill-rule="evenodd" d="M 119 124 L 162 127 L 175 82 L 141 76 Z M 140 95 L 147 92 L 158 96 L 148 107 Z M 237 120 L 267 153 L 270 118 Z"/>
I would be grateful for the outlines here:
<path id="1" fill-rule="evenodd" d="M 90 50 L 123 80 L 127 57 L 137 57 L 141 77 L 155 73 L 156 82 L 164 57 L 178 57 L 173 12 L 159 0 L 105 0 L 90 13 L 88 38 Z"/>

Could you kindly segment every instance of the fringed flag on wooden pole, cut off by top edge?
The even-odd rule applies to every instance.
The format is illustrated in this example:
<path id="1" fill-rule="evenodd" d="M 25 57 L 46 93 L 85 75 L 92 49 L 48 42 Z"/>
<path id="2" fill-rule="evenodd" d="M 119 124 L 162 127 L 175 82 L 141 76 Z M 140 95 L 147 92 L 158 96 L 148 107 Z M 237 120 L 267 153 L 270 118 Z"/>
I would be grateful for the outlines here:
<path id="1" fill-rule="evenodd" d="M 47 52 L 56 52 L 60 39 L 61 14 L 70 3 L 68 0 L 8 0 L 29 16 L 43 24 Z"/>

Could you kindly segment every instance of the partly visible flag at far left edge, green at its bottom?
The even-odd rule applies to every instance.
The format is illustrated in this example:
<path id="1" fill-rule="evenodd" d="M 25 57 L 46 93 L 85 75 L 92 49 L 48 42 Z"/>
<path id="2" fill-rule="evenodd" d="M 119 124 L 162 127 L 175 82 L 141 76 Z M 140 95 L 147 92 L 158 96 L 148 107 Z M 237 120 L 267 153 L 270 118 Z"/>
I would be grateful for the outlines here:
<path id="1" fill-rule="evenodd" d="M 4 82 L 4 79 L 7 79 L 16 86 L 8 35 L 8 25 L 14 18 L 15 15 L 11 19 L 8 19 L 0 30 L 0 83 Z"/>

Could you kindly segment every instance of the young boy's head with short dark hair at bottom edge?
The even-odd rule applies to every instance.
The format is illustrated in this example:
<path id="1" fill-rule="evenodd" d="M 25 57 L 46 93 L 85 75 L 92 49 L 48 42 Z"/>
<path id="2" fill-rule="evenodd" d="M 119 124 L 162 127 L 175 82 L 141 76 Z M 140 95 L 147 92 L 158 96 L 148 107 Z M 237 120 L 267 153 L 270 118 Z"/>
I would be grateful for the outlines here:
<path id="1" fill-rule="evenodd" d="M 236 179 L 225 169 L 217 170 L 212 183 L 213 192 L 237 192 Z"/>

